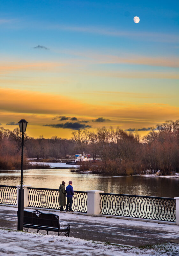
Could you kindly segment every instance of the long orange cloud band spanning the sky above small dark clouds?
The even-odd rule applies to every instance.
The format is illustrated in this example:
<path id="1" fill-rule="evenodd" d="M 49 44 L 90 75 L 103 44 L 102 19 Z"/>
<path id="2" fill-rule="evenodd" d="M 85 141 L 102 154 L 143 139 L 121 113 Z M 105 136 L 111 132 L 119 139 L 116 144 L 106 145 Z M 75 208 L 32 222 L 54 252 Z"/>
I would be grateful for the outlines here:
<path id="1" fill-rule="evenodd" d="M 86 104 L 85 100 L 77 101 L 70 97 L 41 92 L 0 89 L 0 110 L 6 112 L 35 115 L 74 115 L 86 116 L 91 119 L 166 120 L 177 119 L 179 108 L 170 105 L 132 104 L 95 105 Z"/>

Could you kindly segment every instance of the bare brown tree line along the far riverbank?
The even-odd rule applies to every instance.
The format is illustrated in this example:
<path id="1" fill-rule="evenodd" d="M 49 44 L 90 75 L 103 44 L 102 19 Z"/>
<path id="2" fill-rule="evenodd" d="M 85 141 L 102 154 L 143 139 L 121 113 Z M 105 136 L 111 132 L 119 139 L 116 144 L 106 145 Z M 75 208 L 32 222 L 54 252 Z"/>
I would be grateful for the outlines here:
<path id="1" fill-rule="evenodd" d="M 1 127 L 0 168 L 4 158 L 19 159 L 20 149 L 19 128 L 10 131 Z M 119 127 L 102 127 L 95 132 L 77 130 L 71 133 L 71 139 L 33 138 L 25 134 L 26 158 L 59 159 L 79 152 L 91 154 L 94 160 L 97 156 L 101 158 L 101 163 L 90 167 L 93 172 L 114 175 L 179 172 L 179 120 L 156 125 L 144 137 L 137 131 L 125 132 Z"/>

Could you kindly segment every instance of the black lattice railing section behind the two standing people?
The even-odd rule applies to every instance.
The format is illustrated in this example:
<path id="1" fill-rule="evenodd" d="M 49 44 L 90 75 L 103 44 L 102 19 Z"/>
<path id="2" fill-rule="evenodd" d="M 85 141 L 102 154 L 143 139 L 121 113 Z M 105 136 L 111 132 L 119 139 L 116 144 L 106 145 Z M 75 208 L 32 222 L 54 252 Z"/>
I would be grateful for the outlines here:
<path id="1" fill-rule="evenodd" d="M 48 209 L 59 209 L 58 189 L 43 189 L 28 187 L 28 206 Z M 66 206 L 63 207 L 66 209 Z M 73 205 L 74 211 L 87 213 L 87 192 L 74 191 Z"/>

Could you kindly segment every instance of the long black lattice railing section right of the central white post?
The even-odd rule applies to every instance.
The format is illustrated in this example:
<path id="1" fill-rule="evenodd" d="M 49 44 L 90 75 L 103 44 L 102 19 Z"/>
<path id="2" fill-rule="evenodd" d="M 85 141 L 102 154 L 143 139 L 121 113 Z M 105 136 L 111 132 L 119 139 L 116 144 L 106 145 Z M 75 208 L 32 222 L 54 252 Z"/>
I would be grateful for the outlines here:
<path id="1" fill-rule="evenodd" d="M 174 198 L 100 193 L 100 214 L 175 221 Z"/>

